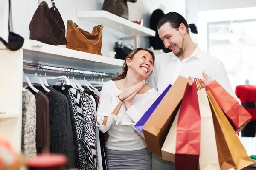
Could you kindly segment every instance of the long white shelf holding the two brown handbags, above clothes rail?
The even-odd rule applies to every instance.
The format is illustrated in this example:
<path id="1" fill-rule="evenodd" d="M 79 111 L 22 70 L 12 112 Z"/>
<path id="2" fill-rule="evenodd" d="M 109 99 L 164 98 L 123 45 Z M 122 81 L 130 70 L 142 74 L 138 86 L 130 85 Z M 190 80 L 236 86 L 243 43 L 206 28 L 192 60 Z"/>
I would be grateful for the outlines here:
<path id="1" fill-rule="evenodd" d="M 38 42 L 39 43 L 39 42 Z M 61 67 L 83 69 L 122 69 L 123 60 L 104 57 L 96 54 L 71 50 L 63 46 L 54 46 L 41 43 L 42 46 L 33 46 L 31 40 L 25 40 L 23 60 L 36 63 L 49 63 Z"/>

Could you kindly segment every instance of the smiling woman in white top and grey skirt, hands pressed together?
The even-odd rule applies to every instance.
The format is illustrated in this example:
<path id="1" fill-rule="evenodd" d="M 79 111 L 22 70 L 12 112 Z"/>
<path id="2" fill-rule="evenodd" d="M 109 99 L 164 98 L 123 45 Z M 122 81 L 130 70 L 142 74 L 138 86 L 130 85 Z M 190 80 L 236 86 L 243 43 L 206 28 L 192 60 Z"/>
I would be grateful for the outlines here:
<path id="1" fill-rule="evenodd" d="M 101 91 L 97 126 L 108 131 L 108 170 L 151 170 L 151 153 L 133 126 L 157 98 L 157 90 L 146 84 L 153 71 L 154 53 L 137 48 L 125 59 L 123 72 L 106 82 Z"/>

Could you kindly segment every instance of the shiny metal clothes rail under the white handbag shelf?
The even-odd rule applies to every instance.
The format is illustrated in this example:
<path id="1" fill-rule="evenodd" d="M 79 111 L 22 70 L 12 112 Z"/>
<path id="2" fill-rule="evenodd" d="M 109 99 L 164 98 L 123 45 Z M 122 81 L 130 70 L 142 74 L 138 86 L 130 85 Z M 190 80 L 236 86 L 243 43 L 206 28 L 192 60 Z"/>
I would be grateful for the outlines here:
<path id="1" fill-rule="evenodd" d="M 116 76 L 116 74 L 112 74 L 112 73 L 104 73 L 104 72 L 99 72 L 99 71 L 96 72 L 96 71 L 76 70 L 76 69 L 73 69 L 73 68 L 53 67 L 53 66 L 47 66 L 47 65 L 42 65 L 42 64 L 31 64 L 31 63 L 26 63 L 26 62 L 23 62 L 23 67 L 25 67 L 23 71 L 25 71 L 26 68 L 35 68 L 35 69 L 38 69 L 38 71 L 41 69 L 41 72 L 45 71 L 45 73 L 48 70 L 63 71 L 63 72 L 65 72 L 64 74 L 73 74 L 72 76 L 75 76 L 78 73 L 79 74 L 84 74 L 84 76 L 90 75 L 90 76 L 93 76 L 94 78 L 96 78 L 96 77 L 98 77 L 98 78 L 111 78 L 111 77 Z"/>

